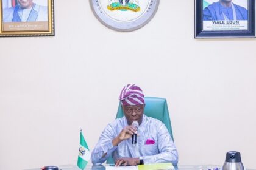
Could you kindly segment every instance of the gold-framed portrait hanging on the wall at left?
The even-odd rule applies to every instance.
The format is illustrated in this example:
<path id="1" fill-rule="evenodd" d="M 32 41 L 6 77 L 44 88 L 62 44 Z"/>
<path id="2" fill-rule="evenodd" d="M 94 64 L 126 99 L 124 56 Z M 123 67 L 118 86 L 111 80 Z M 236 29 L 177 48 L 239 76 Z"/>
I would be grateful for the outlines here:
<path id="1" fill-rule="evenodd" d="M 54 0 L 0 0 L 0 36 L 54 36 Z"/>

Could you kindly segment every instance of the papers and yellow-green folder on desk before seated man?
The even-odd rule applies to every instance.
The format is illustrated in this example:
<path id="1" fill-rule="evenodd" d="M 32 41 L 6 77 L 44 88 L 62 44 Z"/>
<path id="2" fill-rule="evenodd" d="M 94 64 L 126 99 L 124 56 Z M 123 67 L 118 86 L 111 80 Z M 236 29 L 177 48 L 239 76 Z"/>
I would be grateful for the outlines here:
<path id="1" fill-rule="evenodd" d="M 174 169 L 172 163 L 154 163 L 138 166 L 106 166 L 106 170 L 160 170 Z"/>

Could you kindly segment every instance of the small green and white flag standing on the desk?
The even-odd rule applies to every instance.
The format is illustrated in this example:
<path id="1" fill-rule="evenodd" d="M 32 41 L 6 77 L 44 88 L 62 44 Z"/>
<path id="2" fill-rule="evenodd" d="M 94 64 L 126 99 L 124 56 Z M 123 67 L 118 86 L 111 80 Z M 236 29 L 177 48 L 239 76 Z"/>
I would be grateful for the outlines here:
<path id="1" fill-rule="evenodd" d="M 79 153 L 78 153 L 77 166 L 80 169 L 85 169 L 85 166 L 90 160 L 90 156 L 91 154 L 87 146 L 87 143 L 84 139 L 84 136 L 82 134 L 82 129 L 80 129 L 80 147 L 79 147 Z"/>

